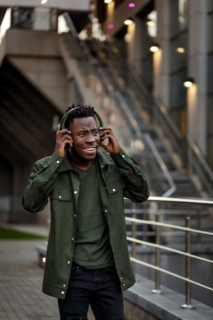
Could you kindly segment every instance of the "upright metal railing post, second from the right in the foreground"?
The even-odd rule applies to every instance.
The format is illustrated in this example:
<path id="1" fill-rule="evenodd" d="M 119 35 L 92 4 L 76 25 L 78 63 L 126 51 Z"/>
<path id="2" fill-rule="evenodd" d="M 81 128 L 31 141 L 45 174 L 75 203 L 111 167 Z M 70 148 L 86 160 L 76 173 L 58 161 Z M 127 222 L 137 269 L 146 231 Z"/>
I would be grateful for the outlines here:
<path id="1" fill-rule="evenodd" d="M 160 222 L 160 214 L 156 214 L 155 221 Z M 156 244 L 160 244 L 160 226 L 156 225 Z M 160 248 L 156 247 L 155 251 L 155 265 L 160 267 Z M 152 293 L 162 293 L 160 290 L 160 271 L 155 270 L 155 289 L 152 290 Z"/>

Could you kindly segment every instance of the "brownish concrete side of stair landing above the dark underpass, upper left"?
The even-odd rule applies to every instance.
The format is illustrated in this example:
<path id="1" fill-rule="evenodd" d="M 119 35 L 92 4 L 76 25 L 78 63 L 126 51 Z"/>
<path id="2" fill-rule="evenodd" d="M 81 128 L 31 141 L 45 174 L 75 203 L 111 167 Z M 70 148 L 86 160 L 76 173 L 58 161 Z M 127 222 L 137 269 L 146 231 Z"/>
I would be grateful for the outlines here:
<path id="1" fill-rule="evenodd" d="M 58 37 L 56 32 L 12 28 L 2 45 L 5 56 L 63 112 L 68 106 L 68 84 Z"/>

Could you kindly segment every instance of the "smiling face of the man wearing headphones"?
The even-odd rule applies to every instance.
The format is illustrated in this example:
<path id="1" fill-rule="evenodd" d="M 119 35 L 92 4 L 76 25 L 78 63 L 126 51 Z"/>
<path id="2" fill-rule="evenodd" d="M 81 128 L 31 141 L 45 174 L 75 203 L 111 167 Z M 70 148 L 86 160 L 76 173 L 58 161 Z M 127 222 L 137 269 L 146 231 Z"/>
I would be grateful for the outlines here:
<path id="1" fill-rule="evenodd" d="M 76 166 L 91 163 L 96 157 L 101 141 L 96 119 L 75 118 L 69 130 L 73 138 L 73 147 L 68 149 L 70 161 Z"/>

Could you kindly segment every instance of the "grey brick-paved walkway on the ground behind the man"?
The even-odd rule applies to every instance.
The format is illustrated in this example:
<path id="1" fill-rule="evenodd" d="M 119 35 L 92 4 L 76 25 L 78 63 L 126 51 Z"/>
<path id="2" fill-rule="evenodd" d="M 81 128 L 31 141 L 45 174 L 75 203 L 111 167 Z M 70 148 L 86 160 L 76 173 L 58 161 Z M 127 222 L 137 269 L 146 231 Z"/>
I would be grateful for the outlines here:
<path id="1" fill-rule="evenodd" d="M 1 320 L 59 320 L 57 299 L 41 291 L 43 269 L 37 263 L 37 244 L 44 241 L 0 241 Z M 94 320 L 90 310 L 88 319 Z"/>

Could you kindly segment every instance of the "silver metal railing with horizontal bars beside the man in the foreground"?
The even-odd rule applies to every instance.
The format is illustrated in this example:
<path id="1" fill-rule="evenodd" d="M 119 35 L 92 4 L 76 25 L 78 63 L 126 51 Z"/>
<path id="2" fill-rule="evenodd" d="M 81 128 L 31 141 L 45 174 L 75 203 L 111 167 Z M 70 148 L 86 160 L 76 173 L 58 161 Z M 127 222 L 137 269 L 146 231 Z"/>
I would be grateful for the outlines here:
<path id="1" fill-rule="evenodd" d="M 135 207 L 133 206 L 133 211 L 134 214 L 132 214 L 132 217 L 125 217 L 126 221 L 131 221 L 133 224 L 139 223 L 139 224 L 151 224 L 156 226 L 156 232 L 157 230 L 159 231 L 159 235 L 158 237 L 156 236 L 156 243 L 151 243 L 148 241 L 144 241 L 144 240 L 139 240 L 135 238 L 135 235 L 132 234 L 132 237 L 127 237 L 127 240 L 130 241 L 132 243 L 132 246 L 134 248 L 134 251 L 132 250 L 132 253 L 134 253 L 130 259 L 132 262 L 138 263 L 140 265 L 144 265 L 147 266 L 151 269 L 155 270 L 155 289 L 152 290 L 153 293 L 161 293 L 162 291 L 160 290 L 160 272 L 163 273 L 167 273 L 170 276 L 173 276 L 175 278 L 178 278 L 180 280 L 184 280 L 185 284 L 186 284 L 186 290 L 185 290 L 185 304 L 183 304 L 181 307 L 182 308 L 187 308 L 187 309 L 191 309 L 193 308 L 193 306 L 191 305 L 191 284 L 195 284 L 199 287 L 205 288 L 207 290 L 213 291 L 212 287 L 206 286 L 200 282 L 197 281 L 193 281 L 191 279 L 191 259 L 197 259 L 200 261 L 204 261 L 204 262 L 208 262 L 208 263 L 213 263 L 213 260 L 211 259 L 206 259 L 203 257 L 199 257 L 196 255 L 191 254 L 191 234 L 192 233 L 197 233 L 197 234 L 201 234 L 201 235 L 206 235 L 206 236 L 213 236 L 212 232 L 206 232 L 206 231 L 201 231 L 199 229 L 195 229 L 191 226 L 191 218 L 188 216 L 188 206 L 189 205 L 204 205 L 204 207 L 212 207 L 213 205 L 213 200 L 209 200 L 209 199 L 187 199 L 187 198 L 169 198 L 169 197 L 155 197 L 155 196 L 150 196 L 149 199 L 147 200 L 146 203 L 149 203 L 150 201 L 154 201 L 156 203 L 160 203 L 160 202 L 170 202 L 172 204 L 174 203 L 181 203 L 181 204 L 185 204 L 186 205 L 186 226 L 178 226 L 178 225 L 174 225 L 171 223 L 164 223 L 164 222 L 159 222 L 159 220 L 157 219 L 156 221 L 150 221 L 150 220 L 145 220 L 145 219 L 136 219 L 135 218 Z M 193 207 L 194 208 L 194 207 Z M 158 210 L 156 209 L 156 216 L 160 216 Z M 176 229 L 176 230 L 181 230 L 185 232 L 185 252 L 181 251 L 181 250 L 177 250 L 174 248 L 171 248 L 169 246 L 164 246 L 160 244 L 160 227 L 168 227 L 168 228 L 172 228 L 172 229 Z M 136 228 L 134 227 L 134 230 L 136 230 Z M 136 249 L 135 249 L 135 244 L 140 244 L 140 245 L 147 245 L 150 247 L 154 247 L 156 249 L 156 263 L 155 265 L 144 262 L 144 261 L 140 261 L 139 259 L 136 259 Z M 166 269 L 163 269 L 160 267 L 160 250 L 166 250 L 168 252 L 172 252 L 174 254 L 177 255 L 181 255 L 184 256 L 186 259 L 186 263 L 185 263 L 185 277 L 182 277 L 180 275 L 178 275 L 177 273 L 168 271 Z"/>

